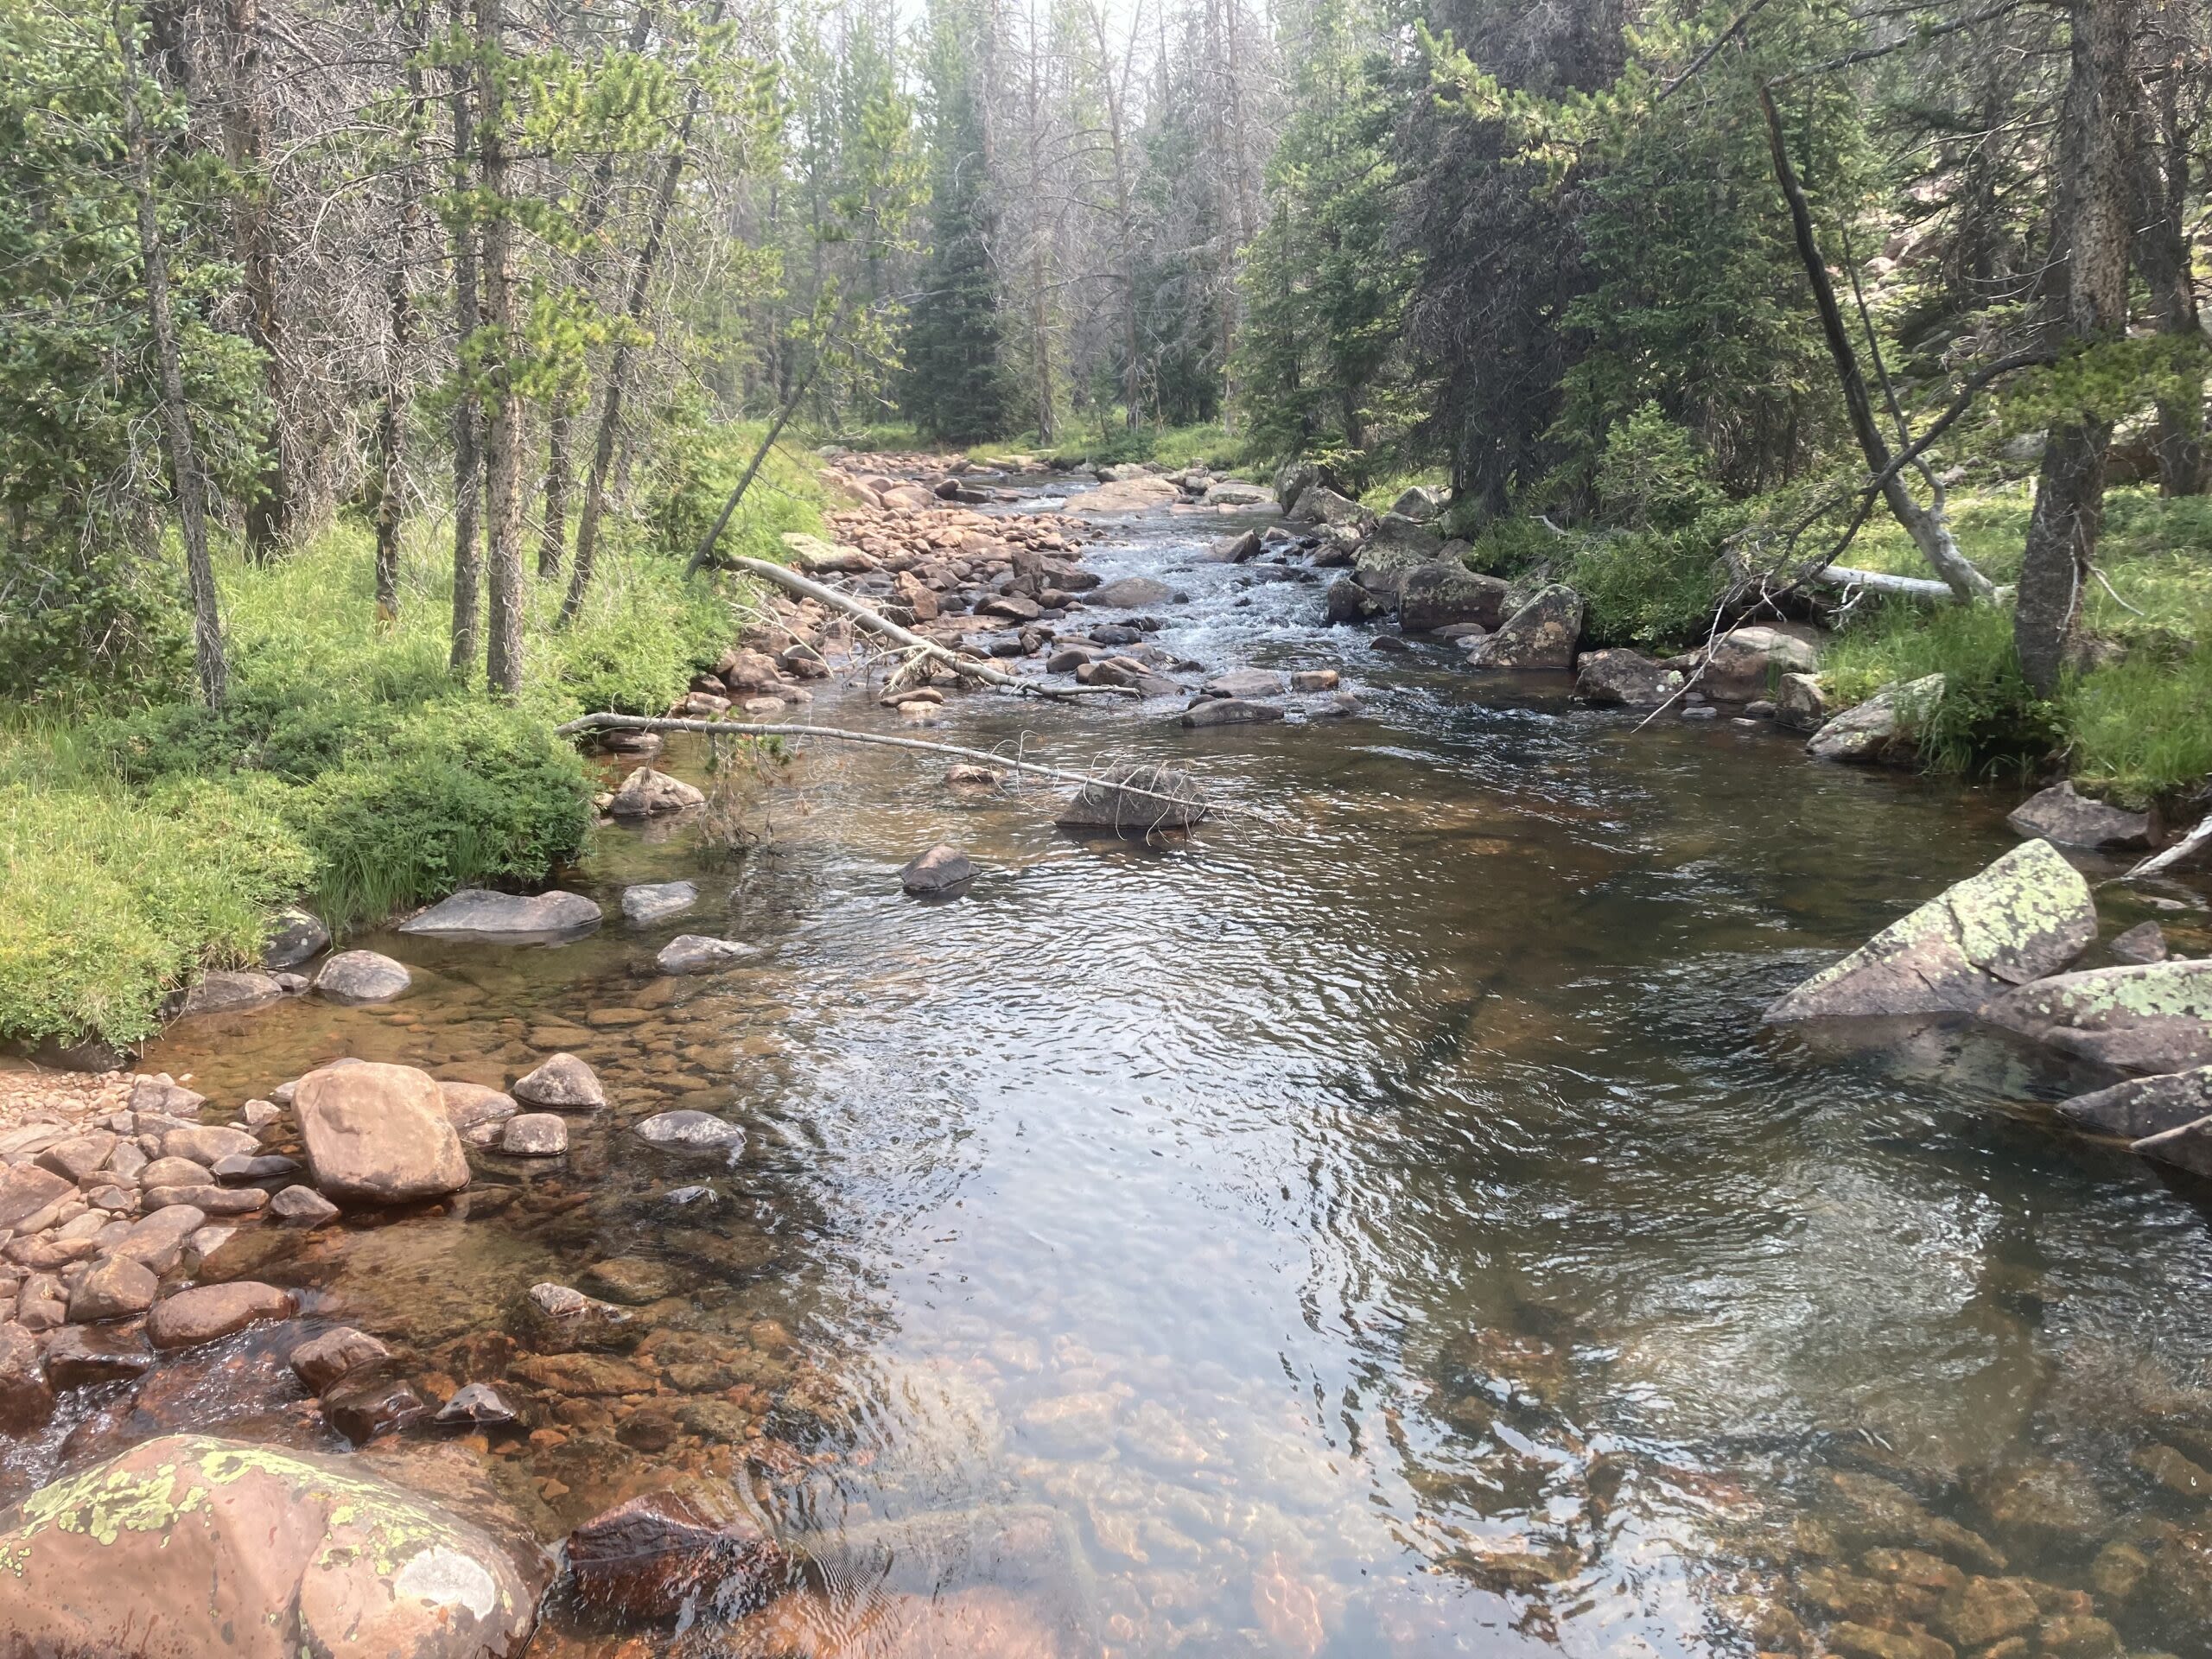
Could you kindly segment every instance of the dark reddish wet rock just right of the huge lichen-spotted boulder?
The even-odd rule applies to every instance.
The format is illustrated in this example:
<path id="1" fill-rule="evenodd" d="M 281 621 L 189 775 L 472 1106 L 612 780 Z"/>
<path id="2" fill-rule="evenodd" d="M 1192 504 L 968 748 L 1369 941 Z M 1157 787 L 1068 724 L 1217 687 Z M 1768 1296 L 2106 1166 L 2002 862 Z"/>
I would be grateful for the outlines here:
<path id="1" fill-rule="evenodd" d="M 568 1533 L 577 1597 L 628 1619 L 741 1613 L 792 1579 L 792 1559 L 708 1493 L 648 1493 Z"/>

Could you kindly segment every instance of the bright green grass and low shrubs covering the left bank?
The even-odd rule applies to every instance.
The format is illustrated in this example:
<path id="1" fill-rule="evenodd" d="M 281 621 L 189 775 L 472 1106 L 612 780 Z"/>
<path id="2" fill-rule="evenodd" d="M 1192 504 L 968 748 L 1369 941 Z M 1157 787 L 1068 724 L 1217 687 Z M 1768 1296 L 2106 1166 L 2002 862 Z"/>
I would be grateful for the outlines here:
<path id="1" fill-rule="evenodd" d="M 748 449 L 732 431 L 602 553 L 571 628 L 531 582 L 526 692 L 491 701 L 447 672 L 447 529 L 411 526 L 400 617 L 376 624 L 374 542 L 352 520 L 290 557 L 219 562 L 232 657 L 221 712 L 181 679 L 73 686 L 0 732 L 0 1037 L 133 1042 L 208 967 L 252 962 L 270 911 L 334 931 L 465 885 L 526 885 L 575 858 L 591 783 L 553 726 L 659 712 L 728 646 L 728 599 L 681 553 Z M 734 551 L 818 529 L 805 458 L 748 495 Z"/>

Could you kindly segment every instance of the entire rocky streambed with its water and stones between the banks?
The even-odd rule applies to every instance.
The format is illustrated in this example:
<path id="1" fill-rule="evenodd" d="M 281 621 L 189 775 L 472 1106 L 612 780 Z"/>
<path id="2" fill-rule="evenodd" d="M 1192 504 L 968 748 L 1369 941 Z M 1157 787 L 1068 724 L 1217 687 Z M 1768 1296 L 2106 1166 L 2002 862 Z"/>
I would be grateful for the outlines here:
<path id="1" fill-rule="evenodd" d="M 834 462 L 801 564 L 1099 690 L 894 690 L 776 602 L 686 712 L 1168 763 L 1212 821 L 619 734 L 553 896 L 0 1073 L 11 1637 L 2201 1650 L 2212 1243 L 2188 1137 L 2128 1150 L 2203 1102 L 2143 1046 L 2199 887 L 1805 754 L 1750 712 L 1794 633 L 1577 699 L 1511 666 L 1559 595 L 1325 498 Z"/>

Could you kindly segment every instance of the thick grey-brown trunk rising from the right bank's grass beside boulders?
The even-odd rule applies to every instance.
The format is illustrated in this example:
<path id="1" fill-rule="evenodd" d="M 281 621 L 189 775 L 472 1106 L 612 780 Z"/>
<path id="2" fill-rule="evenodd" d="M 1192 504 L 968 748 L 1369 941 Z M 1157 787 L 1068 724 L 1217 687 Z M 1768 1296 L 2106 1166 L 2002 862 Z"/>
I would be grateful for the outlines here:
<path id="1" fill-rule="evenodd" d="M 2057 135 L 2057 259 L 2066 334 L 2081 345 L 2128 327 L 2128 157 L 2132 77 L 2130 0 L 2073 0 L 2070 69 Z M 2081 617 L 2081 586 L 2104 524 L 2104 449 L 2112 422 L 2093 409 L 2055 420 L 2035 482 L 2035 513 L 2020 560 L 2013 644 L 2039 697 L 2059 672 Z"/>

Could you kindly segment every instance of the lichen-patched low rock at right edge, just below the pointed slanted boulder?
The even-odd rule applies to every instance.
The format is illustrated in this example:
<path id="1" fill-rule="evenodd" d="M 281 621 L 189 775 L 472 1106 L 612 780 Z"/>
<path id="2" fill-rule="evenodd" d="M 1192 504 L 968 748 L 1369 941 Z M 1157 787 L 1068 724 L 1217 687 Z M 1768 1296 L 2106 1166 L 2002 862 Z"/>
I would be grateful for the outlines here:
<path id="1" fill-rule="evenodd" d="M 2062 973 L 2004 993 L 1982 1018 L 2112 1071 L 2192 1071 L 2212 1064 L 2212 962 Z"/>

